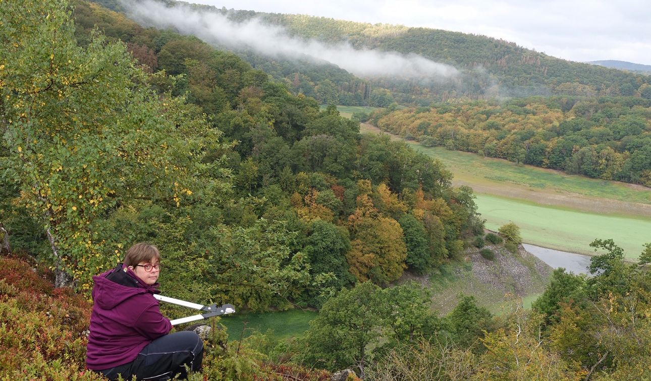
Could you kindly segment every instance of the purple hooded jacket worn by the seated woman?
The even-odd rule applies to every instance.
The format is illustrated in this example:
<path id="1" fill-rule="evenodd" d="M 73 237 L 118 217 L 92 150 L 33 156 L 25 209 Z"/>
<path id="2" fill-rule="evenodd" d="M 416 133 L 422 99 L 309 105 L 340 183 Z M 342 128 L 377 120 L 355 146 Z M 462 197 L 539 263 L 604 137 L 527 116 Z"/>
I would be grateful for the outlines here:
<path id="1" fill-rule="evenodd" d="M 111 369 L 135 360 L 138 353 L 172 329 L 154 294 L 158 283 L 146 285 L 122 264 L 93 276 L 95 302 L 90 315 L 86 366 L 94 371 Z"/>

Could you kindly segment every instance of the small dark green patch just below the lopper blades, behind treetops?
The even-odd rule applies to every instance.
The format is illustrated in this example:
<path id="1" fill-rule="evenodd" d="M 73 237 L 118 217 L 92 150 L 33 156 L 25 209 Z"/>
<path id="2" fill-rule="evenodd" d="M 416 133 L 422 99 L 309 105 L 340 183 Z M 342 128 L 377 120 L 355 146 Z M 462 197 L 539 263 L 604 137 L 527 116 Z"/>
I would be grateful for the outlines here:
<path id="1" fill-rule="evenodd" d="M 264 313 L 234 313 L 220 319 L 226 326 L 229 340 L 248 337 L 255 330 L 264 334 L 273 330 L 274 338 L 279 340 L 302 336 L 310 328 L 310 321 L 318 315 L 316 311 L 290 309 L 288 311 Z"/>

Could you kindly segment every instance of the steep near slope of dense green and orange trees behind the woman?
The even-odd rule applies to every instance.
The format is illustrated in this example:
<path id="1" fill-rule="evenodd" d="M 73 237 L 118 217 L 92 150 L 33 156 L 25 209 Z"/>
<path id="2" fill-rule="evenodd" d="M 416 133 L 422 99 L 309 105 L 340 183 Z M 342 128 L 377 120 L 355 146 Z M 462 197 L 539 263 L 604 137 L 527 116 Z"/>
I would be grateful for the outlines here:
<path id="1" fill-rule="evenodd" d="M 432 269 L 481 231 L 472 190 L 439 161 L 361 137 L 335 107 L 197 38 L 64 6 L 6 13 L 1 119 L 3 226 L 57 285 L 87 292 L 125 242 L 150 241 L 193 264 L 167 272 L 176 292 L 320 306 Z"/>

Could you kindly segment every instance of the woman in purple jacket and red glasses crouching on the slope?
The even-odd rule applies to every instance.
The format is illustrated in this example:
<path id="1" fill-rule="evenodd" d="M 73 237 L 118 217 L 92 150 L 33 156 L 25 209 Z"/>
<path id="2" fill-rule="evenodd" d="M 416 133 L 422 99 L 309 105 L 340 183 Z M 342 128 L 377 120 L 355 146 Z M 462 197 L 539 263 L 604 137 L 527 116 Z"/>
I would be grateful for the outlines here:
<path id="1" fill-rule="evenodd" d="M 154 294 L 161 256 L 156 246 L 135 244 L 124 264 L 94 276 L 86 365 L 111 380 L 169 380 L 201 369 L 203 343 L 190 331 L 169 334 Z"/>

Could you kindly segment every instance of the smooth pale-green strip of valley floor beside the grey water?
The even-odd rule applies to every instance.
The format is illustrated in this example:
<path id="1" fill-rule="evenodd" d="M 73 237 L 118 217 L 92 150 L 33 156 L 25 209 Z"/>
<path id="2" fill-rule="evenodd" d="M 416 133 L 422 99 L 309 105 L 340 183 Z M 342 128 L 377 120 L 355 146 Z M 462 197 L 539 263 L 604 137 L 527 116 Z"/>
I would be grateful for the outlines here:
<path id="1" fill-rule="evenodd" d="M 613 239 L 627 257 L 637 257 L 643 244 L 651 242 L 651 219 L 585 213 L 488 194 L 478 194 L 475 202 L 486 228 L 497 230 L 515 222 L 523 240 L 537 246 L 594 254 L 588 246 L 594 239 Z"/>

